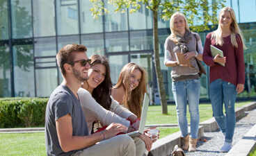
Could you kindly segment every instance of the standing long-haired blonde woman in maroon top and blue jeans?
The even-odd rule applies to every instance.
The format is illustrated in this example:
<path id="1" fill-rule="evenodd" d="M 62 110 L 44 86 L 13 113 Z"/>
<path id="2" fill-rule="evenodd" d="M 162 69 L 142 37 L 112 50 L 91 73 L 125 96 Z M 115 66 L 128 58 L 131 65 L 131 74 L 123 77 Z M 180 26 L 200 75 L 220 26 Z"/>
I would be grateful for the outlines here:
<path id="1" fill-rule="evenodd" d="M 212 57 L 210 45 L 221 49 L 224 57 L 221 58 L 219 54 Z M 202 60 L 210 67 L 209 95 L 212 110 L 225 136 L 221 152 L 228 152 L 232 148 L 236 124 L 234 103 L 237 94 L 243 92 L 245 83 L 243 49 L 246 46 L 234 10 L 227 6 L 219 14 L 218 29 L 207 35 L 202 55 Z M 226 115 L 223 114 L 223 103 Z"/>

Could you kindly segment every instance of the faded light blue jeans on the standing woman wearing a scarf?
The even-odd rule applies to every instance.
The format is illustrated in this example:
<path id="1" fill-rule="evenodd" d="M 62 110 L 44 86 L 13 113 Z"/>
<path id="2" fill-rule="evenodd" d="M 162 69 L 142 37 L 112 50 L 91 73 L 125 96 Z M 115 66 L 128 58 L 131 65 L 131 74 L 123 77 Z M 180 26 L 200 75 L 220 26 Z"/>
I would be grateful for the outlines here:
<path id="1" fill-rule="evenodd" d="M 182 137 L 189 134 L 188 120 L 186 119 L 186 104 L 189 103 L 189 113 L 191 116 L 190 129 L 191 137 L 198 138 L 199 127 L 199 97 L 200 97 L 200 80 L 184 80 L 173 82 L 173 97 L 176 103 L 177 119 Z"/>

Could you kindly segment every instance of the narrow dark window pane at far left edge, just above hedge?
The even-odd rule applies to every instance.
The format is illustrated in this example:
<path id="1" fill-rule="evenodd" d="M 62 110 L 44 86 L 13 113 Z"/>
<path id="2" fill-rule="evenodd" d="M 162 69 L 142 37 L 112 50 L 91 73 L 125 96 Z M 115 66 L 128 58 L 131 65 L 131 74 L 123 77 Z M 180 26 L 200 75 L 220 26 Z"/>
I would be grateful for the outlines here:
<path id="1" fill-rule="evenodd" d="M 0 97 L 11 96 L 10 49 L 6 42 L 0 42 Z"/>

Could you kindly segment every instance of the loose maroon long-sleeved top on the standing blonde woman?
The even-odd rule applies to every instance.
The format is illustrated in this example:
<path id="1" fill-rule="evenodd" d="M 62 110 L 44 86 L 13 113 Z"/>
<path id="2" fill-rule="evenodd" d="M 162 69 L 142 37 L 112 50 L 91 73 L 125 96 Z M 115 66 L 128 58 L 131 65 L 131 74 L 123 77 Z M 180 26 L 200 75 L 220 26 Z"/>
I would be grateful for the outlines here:
<path id="1" fill-rule="evenodd" d="M 207 35 L 202 60 L 210 67 L 210 83 L 221 78 L 235 86 L 237 84 L 244 85 L 245 65 L 243 60 L 243 44 L 240 35 L 237 35 L 236 39 L 238 48 L 232 46 L 230 35 L 223 37 L 223 46 L 214 44 L 215 40 L 211 40 L 211 33 Z M 216 46 L 216 48 L 223 51 L 223 55 L 226 57 L 225 67 L 214 62 L 214 58 L 211 57 L 210 45 Z"/>

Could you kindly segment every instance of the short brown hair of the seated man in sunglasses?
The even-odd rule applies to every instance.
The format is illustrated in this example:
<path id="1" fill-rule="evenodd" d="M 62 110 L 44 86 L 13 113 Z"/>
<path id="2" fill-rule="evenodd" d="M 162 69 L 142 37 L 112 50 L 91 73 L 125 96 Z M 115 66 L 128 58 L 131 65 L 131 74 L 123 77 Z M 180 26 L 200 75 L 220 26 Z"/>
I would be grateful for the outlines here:
<path id="1" fill-rule="evenodd" d="M 64 64 L 73 61 L 74 53 L 86 51 L 86 46 L 83 46 L 81 44 L 67 44 L 66 46 L 63 46 L 63 48 L 60 51 L 58 51 L 56 55 L 56 60 L 63 76 L 65 76 L 66 74 Z"/>

